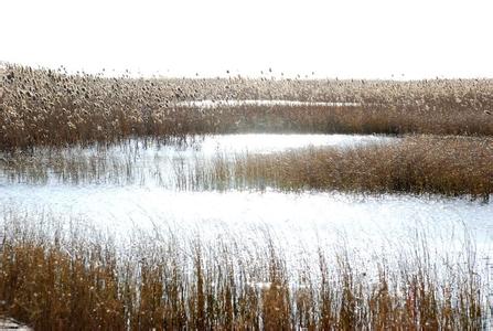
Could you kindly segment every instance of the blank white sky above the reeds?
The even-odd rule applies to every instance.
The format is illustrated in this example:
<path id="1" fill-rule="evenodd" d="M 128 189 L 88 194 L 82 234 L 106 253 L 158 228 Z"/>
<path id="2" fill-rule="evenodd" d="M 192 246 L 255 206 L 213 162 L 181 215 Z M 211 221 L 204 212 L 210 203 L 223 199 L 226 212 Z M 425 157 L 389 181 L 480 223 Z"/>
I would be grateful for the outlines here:
<path id="1" fill-rule="evenodd" d="M 142 75 L 493 77 L 493 1 L 0 3 L 0 61 Z"/>

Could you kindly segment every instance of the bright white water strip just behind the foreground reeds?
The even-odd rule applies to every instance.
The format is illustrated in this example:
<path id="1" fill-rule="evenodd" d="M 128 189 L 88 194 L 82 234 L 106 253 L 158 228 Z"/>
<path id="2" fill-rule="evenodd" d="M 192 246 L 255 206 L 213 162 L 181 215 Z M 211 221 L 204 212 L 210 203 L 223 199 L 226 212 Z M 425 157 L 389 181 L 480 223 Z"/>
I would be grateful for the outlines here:
<path id="1" fill-rule="evenodd" d="M 461 249 L 464 229 L 479 250 L 493 247 L 493 204 L 465 199 L 340 193 L 183 192 L 136 186 L 0 188 L 0 204 L 87 220 L 122 234 L 154 225 L 214 237 L 268 228 L 287 247 L 317 246 L 345 237 L 361 248 L 411 243 L 416 231 L 446 250 Z M 375 246 L 376 245 L 376 246 Z M 311 247 L 314 248 L 314 247 Z"/>

